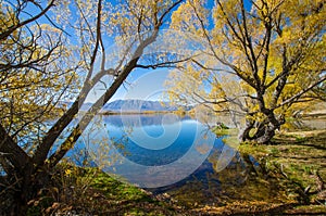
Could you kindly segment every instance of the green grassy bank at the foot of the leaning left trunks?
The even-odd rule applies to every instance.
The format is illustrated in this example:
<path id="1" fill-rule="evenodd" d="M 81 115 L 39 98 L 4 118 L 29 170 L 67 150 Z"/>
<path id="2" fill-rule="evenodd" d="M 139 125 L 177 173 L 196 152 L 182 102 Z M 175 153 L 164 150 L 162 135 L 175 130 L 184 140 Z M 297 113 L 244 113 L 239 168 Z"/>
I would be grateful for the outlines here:
<path id="1" fill-rule="evenodd" d="M 98 168 L 62 163 L 49 190 L 29 202 L 32 215 L 180 215 L 186 211 Z M 183 215 L 183 214 L 181 214 Z"/>

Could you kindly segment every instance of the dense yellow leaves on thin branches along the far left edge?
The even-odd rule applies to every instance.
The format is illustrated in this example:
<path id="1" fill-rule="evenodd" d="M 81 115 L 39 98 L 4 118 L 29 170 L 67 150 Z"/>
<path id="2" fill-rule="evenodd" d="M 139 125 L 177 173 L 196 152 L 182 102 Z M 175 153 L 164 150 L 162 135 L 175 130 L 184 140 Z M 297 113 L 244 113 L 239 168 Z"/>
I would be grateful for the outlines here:
<path id="1" fill-rule="evenodd" d="M 26 5 L 1 4 L 1 33 L 26 20 L 20 7 Z M 1 40 L 0 50 L 1 124 L 22 145 L 28 143 L 30 153 L 47 129 L 46 122 L 62 114 L 57 103 L 74 97 L 78 82 L 71 52 L 61 29 L 38 22 L 14 30 Z"/>

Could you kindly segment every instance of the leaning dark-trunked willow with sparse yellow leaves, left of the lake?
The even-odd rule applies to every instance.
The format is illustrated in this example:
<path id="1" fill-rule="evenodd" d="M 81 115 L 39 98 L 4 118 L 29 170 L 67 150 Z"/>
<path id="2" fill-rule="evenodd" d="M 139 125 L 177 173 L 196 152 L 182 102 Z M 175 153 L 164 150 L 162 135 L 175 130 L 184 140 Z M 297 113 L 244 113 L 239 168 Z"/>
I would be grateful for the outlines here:
<path id="1" fill-rule="evenodd" d="M 28 201 L 49 186 L 53 167 L 135 68 L 165 64 L 143 53 L 179 3 L 1 1 L 1 213 L 25 214 Z M 99 84 L 102 94 L 72 124 Z M 74 102 L 58 105 L 64 100 Z"/>

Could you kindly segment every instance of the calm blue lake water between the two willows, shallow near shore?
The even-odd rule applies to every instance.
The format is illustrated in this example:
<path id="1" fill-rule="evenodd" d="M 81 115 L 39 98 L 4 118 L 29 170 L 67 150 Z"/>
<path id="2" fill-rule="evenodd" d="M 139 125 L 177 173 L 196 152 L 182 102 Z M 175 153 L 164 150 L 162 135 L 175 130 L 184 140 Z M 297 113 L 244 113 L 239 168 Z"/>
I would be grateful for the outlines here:
<path id="1" fill-rule="evenodd" d="M 80 141 L 103 170 L 200 203 L 215 202 L 222 185 L 241 185 L 247 176 L 237 150 L 187 116 L 101 115 Z"/>

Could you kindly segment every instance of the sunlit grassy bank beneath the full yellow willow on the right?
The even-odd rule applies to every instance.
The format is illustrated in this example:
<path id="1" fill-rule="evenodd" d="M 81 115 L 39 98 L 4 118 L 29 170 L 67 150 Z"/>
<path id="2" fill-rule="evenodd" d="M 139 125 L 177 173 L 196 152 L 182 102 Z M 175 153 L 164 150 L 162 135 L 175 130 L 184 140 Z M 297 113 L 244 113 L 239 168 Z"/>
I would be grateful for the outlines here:
<path id="1" fill-rule="evenodd" d="M 286 196 L 275 213 L 326 212 L 326 130 L 281 132 L 268 145 L 242 143 L 239 151 L 258 160 L 263 175 Z"/>

